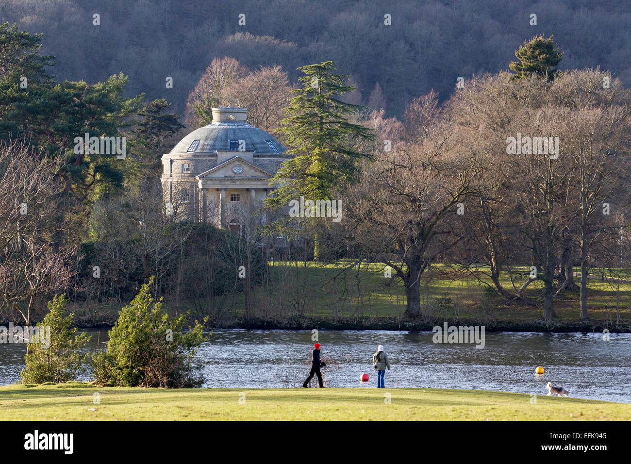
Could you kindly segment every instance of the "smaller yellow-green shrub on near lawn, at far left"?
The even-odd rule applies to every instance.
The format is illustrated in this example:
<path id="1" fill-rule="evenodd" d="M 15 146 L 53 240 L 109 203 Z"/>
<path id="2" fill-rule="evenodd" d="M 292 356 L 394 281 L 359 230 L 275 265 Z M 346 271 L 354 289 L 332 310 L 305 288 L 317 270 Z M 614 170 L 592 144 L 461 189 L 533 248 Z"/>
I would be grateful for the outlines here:
<path id="1" fill-rule="evenodd" d="M 88 354 L 81 354 L 80 350 L 85 348 L 90 335 L 77 334 L 78 330 L 72 327 L 74 313 L 64 318 L 67 302 L 65 295 L 57 295 L 48 302 L 49 312 L 37 325 L 40 340 L 28 343 L 21 383 L 69 382 L 85 373 Z M 44 334 L 50 335 L 49 343 L 41 343 Z"/>

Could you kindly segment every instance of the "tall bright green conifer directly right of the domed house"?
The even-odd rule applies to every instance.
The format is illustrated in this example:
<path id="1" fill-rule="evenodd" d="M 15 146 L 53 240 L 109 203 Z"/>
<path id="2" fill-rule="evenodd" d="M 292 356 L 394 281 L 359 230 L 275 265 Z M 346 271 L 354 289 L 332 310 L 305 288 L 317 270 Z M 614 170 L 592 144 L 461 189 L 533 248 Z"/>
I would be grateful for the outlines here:
<path id="1" fill-rule="evenodd" d="M 285 162 L 272 179 L 280 186 L 269 197 L 271 206 L 286 205 L 292 199 L 327 200 L 336 185 L 354 182 L 357 162 L 368 153 L 353 150 L 358 140 L 373 140 L 374 134 L 349 117 L 361 105 L 339 100 L 351 92 L 345 85 L 345 74 L 334 74 L 333 61 L 309 64 L 298 68 L 305 75 L 299 79 L 302 87 L 292 92 L 295 97 L 287 109 L 281 129 L 286 143 L 292 147 L 292 160 Z M 314 237 L 314 259 L 319 259 L 321 241 Z"/>

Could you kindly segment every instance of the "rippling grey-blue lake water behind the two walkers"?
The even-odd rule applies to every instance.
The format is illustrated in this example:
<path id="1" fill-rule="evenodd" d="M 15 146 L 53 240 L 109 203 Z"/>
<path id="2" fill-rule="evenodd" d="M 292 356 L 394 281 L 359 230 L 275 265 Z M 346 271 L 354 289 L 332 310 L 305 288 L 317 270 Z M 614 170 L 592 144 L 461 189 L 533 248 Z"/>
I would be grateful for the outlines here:
<path id="1" fill-rule="evenodd" d="M 90 347 L 107 331 L 88 331 Z M 546 383 L 575 398 L 631 403 L 631 334 L 487 332 L 485 347 L 437 344 L 433 333 L 320 331 L 329 386 L 374 388 L 372 355 L 384 345 L 392 364 L 387 388 L 463 388 L 546 395 Z M 199 349 L 206 388 L 300 386 L 308 372 L 310 331 L 215 330 Z M 15 383 L 23 345 L 0 345 L 0 384 Z M 536 366 L 545 374 L 535 376 Z M 368 382 L 361 382 L 366 372 Z"/>

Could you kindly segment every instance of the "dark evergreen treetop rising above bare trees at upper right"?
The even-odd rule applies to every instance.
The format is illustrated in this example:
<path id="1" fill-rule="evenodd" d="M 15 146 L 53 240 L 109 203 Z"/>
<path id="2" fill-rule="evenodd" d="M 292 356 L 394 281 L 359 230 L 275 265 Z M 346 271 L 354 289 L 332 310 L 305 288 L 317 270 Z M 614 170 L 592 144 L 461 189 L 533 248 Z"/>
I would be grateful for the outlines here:
<path id="1" fill-rule="evenodd" d="M 554 44 L 552 36 L 546 39 L 543 35 L 538 35 L 525 41 L 524 46 L 515 52 L 515 56 L 520 62 L 510 62 L 510 70 L 516 73 L 510 80 L 531 78 L 534 75 L 553 81 L 563 52 Z"/>

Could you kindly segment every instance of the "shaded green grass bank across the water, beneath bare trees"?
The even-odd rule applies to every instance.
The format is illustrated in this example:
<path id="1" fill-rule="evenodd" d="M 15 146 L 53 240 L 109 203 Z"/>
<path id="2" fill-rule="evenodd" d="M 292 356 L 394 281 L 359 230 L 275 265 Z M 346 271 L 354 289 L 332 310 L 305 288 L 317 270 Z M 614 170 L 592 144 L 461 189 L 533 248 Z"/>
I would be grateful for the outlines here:
<path id="1" fill-rule="evenodd" d="M 604 328 L 631 332 L 631 270 L 616 270 L 622 278 L 588 281 L 589 320 L 580 317 L 579 292 L 555 297 L 555 321 L 544 323 L 543 307 L 525 300 L 509 302 L 493 292 L 487 266 L 463 270 L 435 264 L 421 278 L 422 317 L 404 318 L 405 292 L 400 281 L 384 277 L 384 266 L 363 265 L 348 270 L 350 261 L 334 263 L 271 262 L 270 282 L 251 292 L 251 309 L 244 318 L 244 295 L 192 300 L 165 299 L 174 314 L 191 311 L 191 319 L 209 316 L 213 328 L 329 330 L 432 330 L 443 321 L 484 325 L 488 331 L 591 331 Z M 579 278 L 579 269 L 575 270 Z M 528 280 L 529 268 L 502 271 L 506 289 L 519 288 Z M 609 280 L 607 280 L 609 279 Z M 541 283 L 534 282 L 524 295 L 535 299 Z M 123 304 L 88 304 L 72 307 L 81 327 L 109 326 Z"/>

